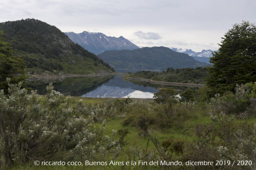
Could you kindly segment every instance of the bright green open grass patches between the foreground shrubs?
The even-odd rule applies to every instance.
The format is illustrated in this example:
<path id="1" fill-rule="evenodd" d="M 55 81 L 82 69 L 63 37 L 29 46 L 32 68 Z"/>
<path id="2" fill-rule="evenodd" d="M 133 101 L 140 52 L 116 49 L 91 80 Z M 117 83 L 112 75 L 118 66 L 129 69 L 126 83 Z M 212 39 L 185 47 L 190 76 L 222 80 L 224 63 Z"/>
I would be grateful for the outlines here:
<path id="1" fill-rule="evenodd" d="M 97 104 L 97 103 L 104 103 L 108 100 L 116 100 L 116 98 L 91 98 L 91 97 L 72 97 L 73 101 L 79 101 L 82 100 L 82 103 L 84 105 L 86 104 Z M 137 100 L 137 99 L 134 99 Z M 141 99 L 140 99 L 141 100 Z M 147 101 L 144 100 L 145 102 L 152 102 L 152 101 Z M 172 140 L 181 140 L 184 142 L 193 142 L 194 140 L 197 140 L 198 137 L 194 133 L 194 129 L 196 125 L 202 124 L 202 125 L 208 125 L 212 123 L 210 117 L 206 114 L 204 114 L 204 110 L 202 108 L 198 109 L 198 116 L 197 117 L 192 117 L 191 119 L 188 119 L 182 123 L 182 128 L 181 127 L 176 127 L 172 126 L 171 128 L 168 129 L 158 129 L 154 130 L 153 133 L 154 135 L 157 135 L 159 138 L 159 141 L 163 141 L 166 139 L 172 139 Z M 125 145 L 125 148 L 129 146 L 142 146 L 146 147 L 147 142 L 148 142 L 148 137 L 140 135 L 140 130 L 136 127 L 133 126 L 122 126 L 124 118 L 115 118 L 115 119 L 107 119 L 107 123 L 105 126 L 105 134 L 108 136 L 112 135 L 112 130 L 119 130 L 119 129 L 128 129 L 129 134 L 124 138 L 127 140 L 127 144 Z M 256 118 L 248 118 L 245 120 L 238 120 L 235 119 L 234 123 L 236 125 L 242 125 L 246 123 L 247 125 L 254 125 L 256 122 Z M 101 123 L 95 123 L 96 127 L 102 126 Z M 116 138 L 118 135 L 116 135 Z M 154 144 L 152 141 L 149 142 L 148 145 L 149 148 L 155 149 Z"/>

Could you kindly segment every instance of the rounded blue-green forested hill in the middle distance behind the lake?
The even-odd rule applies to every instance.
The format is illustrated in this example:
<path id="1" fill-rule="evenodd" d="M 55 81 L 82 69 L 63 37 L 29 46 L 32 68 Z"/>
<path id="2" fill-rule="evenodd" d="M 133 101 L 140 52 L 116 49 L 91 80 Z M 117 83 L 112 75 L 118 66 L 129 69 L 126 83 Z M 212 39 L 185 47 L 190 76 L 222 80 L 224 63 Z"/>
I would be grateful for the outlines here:
<path id="1" fill-rule="evenodd" d="M 104 51 L 98 56 L 117 69 L 164 70 L 169 67 L 196 68 L 208 65 L 207 63 L 196 61 L 185 53 L 175 52 L 163 46 Z"/>

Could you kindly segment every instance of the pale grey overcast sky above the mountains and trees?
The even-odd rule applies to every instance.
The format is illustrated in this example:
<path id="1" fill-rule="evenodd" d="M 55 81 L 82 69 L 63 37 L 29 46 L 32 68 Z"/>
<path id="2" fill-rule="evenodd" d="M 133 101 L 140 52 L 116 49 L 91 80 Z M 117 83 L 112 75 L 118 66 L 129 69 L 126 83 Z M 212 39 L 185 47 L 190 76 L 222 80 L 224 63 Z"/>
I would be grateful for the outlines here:
<path id="1" fill-rule="evenodd" d="M 0 22 L 35 18 L 62 32 L 197 52 L 218 49 L 233 24 L 256 22 L 256 0 L 3 0 L 0 11 Z"/>

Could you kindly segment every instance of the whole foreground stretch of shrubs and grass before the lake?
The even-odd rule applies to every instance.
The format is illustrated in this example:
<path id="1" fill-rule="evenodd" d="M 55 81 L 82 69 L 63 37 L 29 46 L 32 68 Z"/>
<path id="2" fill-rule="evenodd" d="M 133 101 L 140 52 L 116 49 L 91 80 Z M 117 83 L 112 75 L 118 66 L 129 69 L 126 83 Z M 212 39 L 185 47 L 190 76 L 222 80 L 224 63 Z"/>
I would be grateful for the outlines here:
<path id="1" fill-rule="evenodd" d="M 208 102 L 195 102 L 200 101 L 196 97 L 178 100 L 172 88 L 156 93 L 156 102 L 130 98 L 94 102 L 63 96 L 51 83 L 45 96 L 20 89 L 21 84 L 8 84 L 9 95 L 3 91 L 0 95 L 1 167 L 29 169 L 35 160 L 255 159 L 256 83 L 237 86 L 235 93 L 216 95 Z M 235 168 L 254 169 L 253 163 Z M 212 167 L 199 167 L 203 168 Z"/>

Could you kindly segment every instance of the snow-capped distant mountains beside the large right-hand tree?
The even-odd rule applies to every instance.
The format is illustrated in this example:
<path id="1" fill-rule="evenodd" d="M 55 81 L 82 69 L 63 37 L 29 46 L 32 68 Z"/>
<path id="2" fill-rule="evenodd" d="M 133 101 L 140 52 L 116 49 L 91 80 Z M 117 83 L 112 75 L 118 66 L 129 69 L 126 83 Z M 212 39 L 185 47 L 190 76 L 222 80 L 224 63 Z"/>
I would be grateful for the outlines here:
<path id="1" fill-rule="evenodd" d="M 192 51 L 191 49 L 186 49 L 186 48 L 171 47 L 170 49 L 172 49 L 176 52 L 182 52 L 182 53 L 188 54 L 189 56 L 192 56 L 197 61 L 211 64 L 209 61 L 210 61 L 210 57 L 212 56 L 213 51 L 210 49 L 206 49 L 206 50 L 203 49 L 201 52 L 195 52 L 195 51 Z"/>

